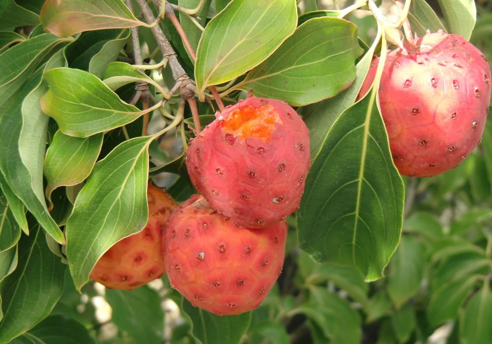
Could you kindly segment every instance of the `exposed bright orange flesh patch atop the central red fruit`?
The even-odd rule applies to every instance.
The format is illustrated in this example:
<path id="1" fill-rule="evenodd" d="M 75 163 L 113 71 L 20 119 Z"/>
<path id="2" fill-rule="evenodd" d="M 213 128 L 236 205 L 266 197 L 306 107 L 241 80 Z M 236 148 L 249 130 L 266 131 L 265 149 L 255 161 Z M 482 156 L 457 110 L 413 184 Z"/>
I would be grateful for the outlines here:
<path id="1" fill-rule="evenodd" d="M 224 134 L 231 133 L 243 140 L 254 137 L 269 143 L 276 123 L 283 125 L 277 110 L 271 104 L 260 107 L 246 105 L 231 112 L 220 126 Z"/>

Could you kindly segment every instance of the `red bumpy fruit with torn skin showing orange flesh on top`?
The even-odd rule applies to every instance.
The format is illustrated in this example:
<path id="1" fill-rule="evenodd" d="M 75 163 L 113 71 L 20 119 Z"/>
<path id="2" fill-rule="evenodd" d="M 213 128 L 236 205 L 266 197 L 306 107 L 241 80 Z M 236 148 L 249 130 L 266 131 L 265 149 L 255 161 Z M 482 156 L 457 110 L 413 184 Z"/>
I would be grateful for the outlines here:
<path id="1" fill-rule="evenodd" d="M 294 212 L 309 169 L 309 131 L 287 103 L 250 96 L 191 141 L 186 167 L 216 211 L 246 228 Z"/>

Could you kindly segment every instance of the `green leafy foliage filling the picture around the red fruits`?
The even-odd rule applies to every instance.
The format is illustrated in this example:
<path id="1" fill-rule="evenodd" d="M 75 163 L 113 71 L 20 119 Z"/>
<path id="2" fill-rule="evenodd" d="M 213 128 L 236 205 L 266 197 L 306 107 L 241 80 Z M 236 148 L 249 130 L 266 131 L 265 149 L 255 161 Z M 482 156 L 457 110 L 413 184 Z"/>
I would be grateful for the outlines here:
<path id="1" fill-rule="evenodd" d="M 353 2 L 327 10 L 317 0 L 204 0 L 193 18 L 203 35 L 176 12 L 196 64 L 169 18 L 158 24 L 196 80 L 197 101 L 211 85 L 226 104 L 253 90 L 288 101 L 310 129 L 306 192 L 287 219 L 283 274 L 265 302 L 216 316 L 165 275 L 132 291 L 90 281 L 98 257 L 145 225 L 148 178 L 178 201 L 194 192 L 180 145 L 193 121 L 176 94 L 154 107 L 156 129 L 142 136 L 143 104 L 129 104 L 135 82 L 159 102 L 175 80 L 170 62 L 131 65 L 134 26 L 144 63 L 163 60 L 137 3 L 132 13 L 120 0 L 65 0 L 65 12 L 55 2 L 41 12 L 43 0 L 0 1 L 0 344 L 492 343 L 491 120 L 457 168 L 400 178 L 375 92 L 352 105 L 381 33 L 371 15 L 337 9 Z M 90 16 L 64 17 L 89 8 L 118 20 L 88 31 Z M 413 0 L 408 18 L 417 34 L 461 34 L 492 61 L 490 2 Z M 198 109 L 202 125 L 213 120 L 207 102 Z M 357 230 L 359 213 L 327 231 L 354 209 L 369 237 Z"/>

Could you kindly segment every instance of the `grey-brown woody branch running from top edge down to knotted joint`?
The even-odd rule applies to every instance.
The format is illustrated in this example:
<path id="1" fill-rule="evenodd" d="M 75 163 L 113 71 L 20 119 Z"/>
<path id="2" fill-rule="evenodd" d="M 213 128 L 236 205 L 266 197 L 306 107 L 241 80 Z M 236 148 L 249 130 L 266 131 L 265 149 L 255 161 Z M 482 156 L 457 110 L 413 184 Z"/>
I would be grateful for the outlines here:
<path id="1" fill-rule="evenodd" d="M 151 24 L 155 21 L 154 14 L 152 13 L 152 9 L 147 4 L 146 0 L 136 0 L 138 6 L 142 10 L 142 15 L 144 16 L 147 23 Z M 183 67 L 178 61 L 176 56 L 176 52 L 173 47 L 167 40 L 164 32 L 160 28 L 160 26 L 155 25 L 151 28 L 152 34 L 155 37 L 155 41 L 159 46 L 160 51 L 162 52 L 163 57 L 168 58 L 168 64 L 171 67 L 171 72 L 173 74 L 173 78 L 176 82 L 181 82 L 180 84 L 180 94 L 185 98 L 189 99 L 195 96 L 196 86 L 193 80 L 189 78 L 189 76 L 184 71 Z"/>

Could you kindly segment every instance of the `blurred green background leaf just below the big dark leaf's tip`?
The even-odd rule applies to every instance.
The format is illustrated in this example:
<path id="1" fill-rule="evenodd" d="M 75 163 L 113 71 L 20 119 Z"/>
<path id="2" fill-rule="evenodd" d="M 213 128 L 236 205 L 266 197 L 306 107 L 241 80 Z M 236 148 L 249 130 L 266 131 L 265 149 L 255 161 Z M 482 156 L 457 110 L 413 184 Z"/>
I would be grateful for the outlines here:
<path id="1" fill-rule="evenodd" d="M 355 301 L 365 305 L 368 301 L 368 284 L 359 269 L 352 266 L 342 266 L 331 263 L 317 264 L 307 283 L 333 281 L 339 288 L 345 290 Z"/>

